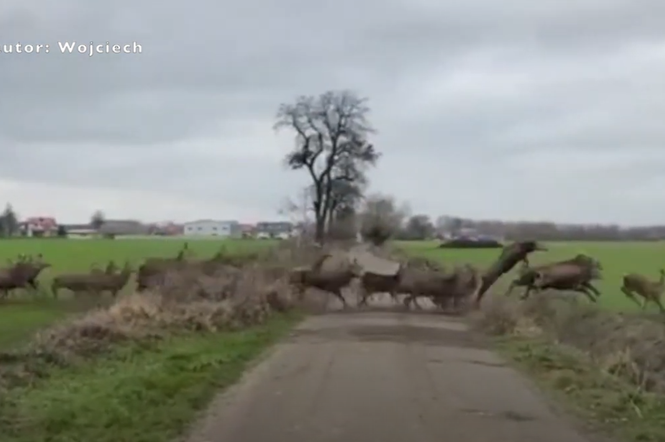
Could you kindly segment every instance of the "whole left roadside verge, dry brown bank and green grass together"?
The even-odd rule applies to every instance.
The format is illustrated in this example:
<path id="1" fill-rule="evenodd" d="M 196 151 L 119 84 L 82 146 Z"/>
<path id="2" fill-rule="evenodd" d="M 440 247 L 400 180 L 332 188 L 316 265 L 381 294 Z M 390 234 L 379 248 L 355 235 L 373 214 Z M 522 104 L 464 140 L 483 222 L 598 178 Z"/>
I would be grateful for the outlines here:
<path id="1" fill-rule="evenodd" d="M 0 353 L 0 440 L 173 440 L 323 298 L 287 284 L 320 253 L 283 242 L 239 268 L 172 273 Z"/>

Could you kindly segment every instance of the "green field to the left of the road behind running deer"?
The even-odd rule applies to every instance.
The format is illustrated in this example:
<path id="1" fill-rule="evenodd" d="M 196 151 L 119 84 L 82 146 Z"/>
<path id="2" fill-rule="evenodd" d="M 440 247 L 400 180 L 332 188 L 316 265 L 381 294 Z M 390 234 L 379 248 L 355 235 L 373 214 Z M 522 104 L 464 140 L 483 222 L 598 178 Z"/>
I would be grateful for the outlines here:
<path id="1" fill-rule="evenodd" d="M 47 287 L 54 275 L 66 272 L 87 272 L 93 263 L 104 266 L 113 259 L 119 265 L 129 261 L 134 267 L 148 257 L 175 256 L 186 239 L 117 239 L 117 240 L 62 240 L 12 239 L 0 241 L 0 265 L 14 259 L 19 253 L 38 254 L 52 265 L 40 275 L 41 293 L 28 296 L 18 291 L 11 300 L 0 300 L 0 350 L 28 339 L 36 330 L 64 318 L 72 311 L 86 306 L 71 299 L 54 302 Z M 187 241 L 195 258 L 213 256 L 224 246 L 229 253 L 251 253 L 265 250 L 273 241 L 252 240 L 200 240 Z M 123 293 L 130 292 L 133 283 Z M 121 295 L 123 294 L 121 293 Z M 66 298 L 66 296 L 65 296 Z M 85 303 L 84 303 L 85 304 Z M 90 303 L 87 303 L 90 304 Z"/>

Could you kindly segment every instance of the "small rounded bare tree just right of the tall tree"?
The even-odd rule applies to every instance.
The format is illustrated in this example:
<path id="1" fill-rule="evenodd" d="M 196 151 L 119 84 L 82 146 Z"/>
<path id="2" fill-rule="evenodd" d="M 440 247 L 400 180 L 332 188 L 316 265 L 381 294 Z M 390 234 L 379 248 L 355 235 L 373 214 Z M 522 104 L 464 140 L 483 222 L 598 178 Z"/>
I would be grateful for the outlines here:
<path id="1" fill-rule="evenodd" d="M 363 238 L 375 245 L 383 244 L 399 232 L 409 212 L 407 204 L 398 205 L 391 196 L 368 196 L 360 213 Z"/>

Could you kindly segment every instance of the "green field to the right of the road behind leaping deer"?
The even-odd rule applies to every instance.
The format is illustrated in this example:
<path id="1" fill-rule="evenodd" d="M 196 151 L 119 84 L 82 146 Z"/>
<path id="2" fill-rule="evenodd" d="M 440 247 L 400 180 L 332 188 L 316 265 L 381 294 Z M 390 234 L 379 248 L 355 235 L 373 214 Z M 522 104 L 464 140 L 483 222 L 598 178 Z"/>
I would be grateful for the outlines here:
<path id="1" fill-rule="evenodd" d="M 492 263 L 499 254 L 499 249 L 439 249 L 438 243 L 432 241 L 403 241 L 396 245 L 410 254 L 444 264 L 469 262 L 484 267 Z M 665 243 L 661 242 L 562 242 L 550 243 L 547 246 L 549 251 L 531 255 L 529 261 L 533 265 L 571 258 L 577 253 L 586 253 L 600 260 L 603 265 L 603 279 L 594 284 L 602 293 L 599 303 L 615 310 L 637 309 L 619 290 L 624 274 L 639 272 L 657 280 L 658 270 L 665 268 Z M 502 277 L 491 292 L 504 293 L 512 279 L 511 275 Z M 651 309 L 656 311 L 654 306 L 651 306 Z"/>

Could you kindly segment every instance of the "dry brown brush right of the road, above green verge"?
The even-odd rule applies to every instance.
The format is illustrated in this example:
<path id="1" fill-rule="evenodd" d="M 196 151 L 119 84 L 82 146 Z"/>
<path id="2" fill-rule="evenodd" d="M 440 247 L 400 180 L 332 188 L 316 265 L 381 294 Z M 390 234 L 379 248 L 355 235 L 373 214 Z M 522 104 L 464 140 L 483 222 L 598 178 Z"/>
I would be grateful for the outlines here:
<path id="1" fill-rule="evenodd" d="M 605 372 L 665 394 L 665 323 L 659 315 L 613 312 L 546 291 L 525 302 L 490 298 L 476 325 L 495 335 L 546 337 L 583 352 Z"/>

